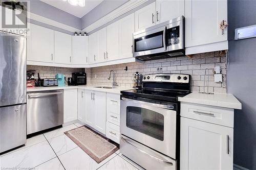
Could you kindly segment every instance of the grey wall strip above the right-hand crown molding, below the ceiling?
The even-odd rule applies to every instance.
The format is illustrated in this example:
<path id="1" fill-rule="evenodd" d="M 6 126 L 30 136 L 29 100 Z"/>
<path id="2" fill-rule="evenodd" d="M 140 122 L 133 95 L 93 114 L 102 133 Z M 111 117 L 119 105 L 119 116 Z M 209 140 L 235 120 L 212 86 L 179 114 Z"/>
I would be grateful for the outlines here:
<path id="1" fill-rule="evenodd" d="M 117 9 L 129 0 L 105 0 L 95 7 L 92 11 L 87 13 L 81 18 L 82 29 L 90 26 L 93 22 L 100 19 L 102 16 L 110 13 L 111 11 Z"/>

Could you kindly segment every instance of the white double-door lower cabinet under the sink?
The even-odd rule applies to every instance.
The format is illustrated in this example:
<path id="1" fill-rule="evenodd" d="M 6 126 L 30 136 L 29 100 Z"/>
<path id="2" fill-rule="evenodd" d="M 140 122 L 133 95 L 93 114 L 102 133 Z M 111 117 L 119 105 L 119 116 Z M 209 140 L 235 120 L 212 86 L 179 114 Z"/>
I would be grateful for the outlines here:
<path id="1" fill-rule="evenodd" d="M 84 123 L 105 134 L 106 93 L 93 90 L 84 91 L 86 96 L 86 116 Z"/>

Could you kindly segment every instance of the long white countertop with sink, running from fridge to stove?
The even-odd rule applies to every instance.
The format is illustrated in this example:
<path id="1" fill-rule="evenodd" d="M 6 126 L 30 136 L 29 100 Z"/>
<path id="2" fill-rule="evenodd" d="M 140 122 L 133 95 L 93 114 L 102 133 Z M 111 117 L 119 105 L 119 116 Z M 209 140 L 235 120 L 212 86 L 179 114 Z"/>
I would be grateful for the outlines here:
<path id="1" fill-rule="evenodd" d="M 118 93 L 122 90 L 133 89 L 133 87 L 115 87 L 111 89 L 107 88 L 97 88 L 100 85 L 88 86 L 88 85 L 80 85 L 80 86 L 51 86 L 51 87 L 27 87 L 27 92 L 31 91 L 46 91 L 46 90 L 60 90 L 60 89 L 86 89 L 86 90 L 95 90 L 95 91 L 104 91 L 109 93 Z"/>

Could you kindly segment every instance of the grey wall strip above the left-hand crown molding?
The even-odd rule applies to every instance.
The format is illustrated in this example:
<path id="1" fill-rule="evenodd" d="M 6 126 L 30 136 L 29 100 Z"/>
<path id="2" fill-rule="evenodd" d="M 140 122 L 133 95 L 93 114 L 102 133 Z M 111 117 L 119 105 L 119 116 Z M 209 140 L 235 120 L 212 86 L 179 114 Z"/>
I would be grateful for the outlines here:
<path id="1" fill-rule="evenodd" d="M 81 30 L 81 18 L 39 0 L 30 0 L 30 12 Z"/>

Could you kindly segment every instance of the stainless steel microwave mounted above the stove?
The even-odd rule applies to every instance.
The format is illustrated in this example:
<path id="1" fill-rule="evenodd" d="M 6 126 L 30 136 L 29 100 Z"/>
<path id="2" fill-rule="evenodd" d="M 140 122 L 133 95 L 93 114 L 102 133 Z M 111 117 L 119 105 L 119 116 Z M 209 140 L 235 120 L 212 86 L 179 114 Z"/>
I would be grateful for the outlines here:
<path id="1" fill-rule="evenodd" d="M 133 34 L 133 57 L 156 60 L 185 56 L 184 16 Z"/>

